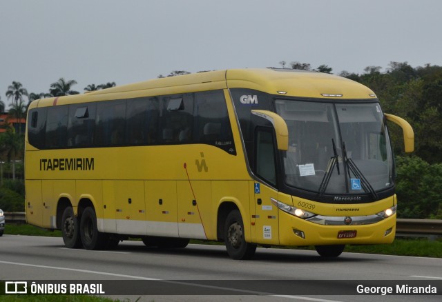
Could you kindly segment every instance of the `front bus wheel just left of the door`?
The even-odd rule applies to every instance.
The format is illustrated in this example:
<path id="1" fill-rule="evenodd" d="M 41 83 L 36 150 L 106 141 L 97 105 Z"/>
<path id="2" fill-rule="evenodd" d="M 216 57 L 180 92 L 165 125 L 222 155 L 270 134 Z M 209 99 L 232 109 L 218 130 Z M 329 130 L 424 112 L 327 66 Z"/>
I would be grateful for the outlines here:
<path id="1" fill-rule="evenodd" d="M 231 259 L 251 259 L 256 252 L 256 244 L 248 243 L 244 238 L 244 223 L 239 210 L 233 210 L 227 215 L 224 243 Z"/>

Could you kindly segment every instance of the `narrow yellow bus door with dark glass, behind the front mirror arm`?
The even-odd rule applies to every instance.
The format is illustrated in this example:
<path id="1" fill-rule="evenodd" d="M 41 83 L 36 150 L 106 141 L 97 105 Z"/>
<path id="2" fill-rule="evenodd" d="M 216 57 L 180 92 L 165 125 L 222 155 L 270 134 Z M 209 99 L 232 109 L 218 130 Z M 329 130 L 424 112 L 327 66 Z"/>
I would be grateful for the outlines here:
<path id="1" fill-rule="evenodd" d="M 278 198 L 278 191 L 272 188 L 276 187 L 273 129 L 258 127 L 255 139 L 255 171 L 256 176 L 263 179 L 253 183 L 256 241 L 262 244 L 279 244 L 278 208 L 271 203 L 271 199 Z"/>

